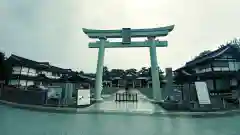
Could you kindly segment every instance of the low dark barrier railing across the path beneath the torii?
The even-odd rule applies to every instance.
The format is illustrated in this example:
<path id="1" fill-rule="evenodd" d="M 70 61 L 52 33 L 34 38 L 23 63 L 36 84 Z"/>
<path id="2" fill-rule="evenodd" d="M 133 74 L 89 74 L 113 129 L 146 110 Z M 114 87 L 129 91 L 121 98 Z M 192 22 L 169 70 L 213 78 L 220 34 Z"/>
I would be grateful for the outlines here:
<path id="1" fill-rule="evenodd" d="M 132 102 L 137 102 L 138 101 L 138 96 L 137 93 L 116 93 L 116 98 L 115 101 L 121 102 L 121 101 L 132 101 Z"/>

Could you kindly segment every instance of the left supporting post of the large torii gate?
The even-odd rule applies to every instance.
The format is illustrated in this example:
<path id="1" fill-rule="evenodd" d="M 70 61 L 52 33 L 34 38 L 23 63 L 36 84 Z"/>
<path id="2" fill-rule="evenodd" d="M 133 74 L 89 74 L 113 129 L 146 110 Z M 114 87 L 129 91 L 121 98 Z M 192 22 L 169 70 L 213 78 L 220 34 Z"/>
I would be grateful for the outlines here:
<path id="1" fill-rule="evenodd" d="M 103 63 L 104 63 L 104 52 L 105 52 L 105 42 L 106 38 L 100 39 L 100 47 L 98 49 L 98 61 L 97 61 L 97 72 L 96 72 L 96 82 L 95 82 L 95 100 L 100 101 L 101 91 L 102 91 L 102 75 L 103 75 Z"/>

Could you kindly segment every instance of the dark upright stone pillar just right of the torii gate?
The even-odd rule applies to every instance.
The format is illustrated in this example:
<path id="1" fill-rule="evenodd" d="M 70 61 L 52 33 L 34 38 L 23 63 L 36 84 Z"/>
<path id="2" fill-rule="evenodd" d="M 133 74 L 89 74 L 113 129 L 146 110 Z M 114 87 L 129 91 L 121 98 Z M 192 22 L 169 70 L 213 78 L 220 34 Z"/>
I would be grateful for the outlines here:
<path id="1" fill-rule="evenodd" d="M 166 73 L 166 80 L 167 80 L 167 83 L 165 85 L 165 88 L 164 88 L 164 91 L 163 91 L 163 96 L 164 96 L 164 99 L 167 97 L 167 96 L 171 96 L 174 94 L 174 91 L 173 91 L 173 74 L 172 74 L 172 68 L 166 68 L 165 69 L 165 73 Z"/>

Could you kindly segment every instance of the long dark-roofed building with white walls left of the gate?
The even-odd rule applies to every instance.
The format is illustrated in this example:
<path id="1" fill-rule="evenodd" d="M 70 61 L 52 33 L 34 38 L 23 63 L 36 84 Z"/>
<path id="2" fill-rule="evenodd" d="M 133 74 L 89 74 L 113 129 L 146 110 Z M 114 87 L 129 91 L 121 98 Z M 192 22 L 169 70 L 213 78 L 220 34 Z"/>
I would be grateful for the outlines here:
<path id="1" fill-rule="evenodd" d="M 49 62 L 37 62 L 17 55 L 11 55 L 7 61 L 12 67 L 9 85 L 52 85 L 65 81 L 81 82 L 89 79 L 71 69 L 50 65 Z"/>

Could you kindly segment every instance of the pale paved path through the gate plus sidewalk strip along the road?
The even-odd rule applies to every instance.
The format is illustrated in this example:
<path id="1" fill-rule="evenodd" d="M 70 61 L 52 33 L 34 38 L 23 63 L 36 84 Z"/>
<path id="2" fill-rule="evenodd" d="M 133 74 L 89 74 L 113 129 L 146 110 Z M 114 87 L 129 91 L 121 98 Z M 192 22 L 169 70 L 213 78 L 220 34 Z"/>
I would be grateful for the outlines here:
<path id="1" fill-rule="evenodd" d="M 124 92 L 119 90 L 118 92 Z M 0 104 L 10 107 L 22 108 L 53 113 L 74 113 L 74 114 L 122 114 L 122 115 L 152 115 L 152 116 L 173 116 L 173 117 L 219 117 L 239 115 L 240 110 L 228 110 L 220 112 L 169 112 L 158 105 L 151 103 L 150 99 L 140 91 L 132 89 L 131 92 L 138 93 L 138 102 L 115 102 L 115 94 L 104 95 L 103 102 L 95 103 L 86 108 L 68 108 L 68 107 L 46 107 L 39 105 L 18 104 L 0 100 Z"/>

